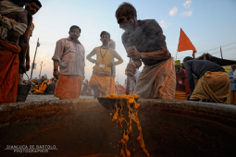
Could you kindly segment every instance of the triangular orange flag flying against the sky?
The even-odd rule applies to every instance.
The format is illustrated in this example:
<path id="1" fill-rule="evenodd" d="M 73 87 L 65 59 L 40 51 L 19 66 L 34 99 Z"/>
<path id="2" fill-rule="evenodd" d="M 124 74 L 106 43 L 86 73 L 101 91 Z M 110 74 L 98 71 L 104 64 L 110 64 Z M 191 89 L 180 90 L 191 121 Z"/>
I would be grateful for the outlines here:
<path id="1" fill-rule="evenodd" d="M 192 42 L 189 40 L 187 35 L 184 33 L 182 28 L 180 28 L 180 37 L 179 37 L 179 45 L 178 52 L 193 50 L 193 58 L 195 58 L 195 53 L 197 52 L 196 48 L 193 46 Z"/>

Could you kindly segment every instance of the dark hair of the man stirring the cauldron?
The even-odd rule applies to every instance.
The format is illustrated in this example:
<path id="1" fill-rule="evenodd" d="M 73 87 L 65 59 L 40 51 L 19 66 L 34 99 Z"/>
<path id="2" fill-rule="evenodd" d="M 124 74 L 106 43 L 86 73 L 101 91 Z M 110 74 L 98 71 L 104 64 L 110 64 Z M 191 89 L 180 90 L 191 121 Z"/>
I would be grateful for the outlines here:
<path id="1" fill-rule="evenodd" d="M 131 15 L 137 18 L 137 12 L 134 6 L 130 3 L 124 2 L 122 3 L 118 9 L 116 10 L 116 18 L 119 16 L 131 17 Z"/>

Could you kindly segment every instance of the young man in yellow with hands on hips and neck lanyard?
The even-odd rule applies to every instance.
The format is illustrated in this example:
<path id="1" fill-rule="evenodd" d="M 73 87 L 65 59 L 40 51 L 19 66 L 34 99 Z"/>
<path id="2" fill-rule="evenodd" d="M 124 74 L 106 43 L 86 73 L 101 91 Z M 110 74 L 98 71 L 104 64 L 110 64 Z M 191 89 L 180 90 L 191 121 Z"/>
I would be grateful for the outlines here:
<path id="1" fill-rule="evenodd" d="M 106 31 L 102 31 L 100 37 L 102 46 L 94 48 L 86 57 L 90 62 L 95 64 L 89 82 L 90 87 L 94 91 L 94 98 L 99 97 L 100 94 L 106 96 L 109 93 L 111 66 L 123 63 L 123 59 L 120 55 L 114 49 L 108 47 L 110 34 Z M 92 59 L 94 55 L 96 55 L 96 60 Z M 114 58 L 118 59 L 118 61 L 113 62 Z"/>

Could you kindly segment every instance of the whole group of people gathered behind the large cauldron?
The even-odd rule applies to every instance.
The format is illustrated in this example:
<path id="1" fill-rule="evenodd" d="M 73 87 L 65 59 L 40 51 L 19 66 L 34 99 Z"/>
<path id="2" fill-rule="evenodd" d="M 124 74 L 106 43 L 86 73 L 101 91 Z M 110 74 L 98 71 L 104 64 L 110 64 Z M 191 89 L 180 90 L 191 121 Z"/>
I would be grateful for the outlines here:
<path id="1" fill-rule="evenodd" d="M 29 39 L 34 28 L 32 15 L 42 5 L 38 0 L 0 0 L 0 7 L 2 104 L 16 102 L 22 74 L 30 68 Z M 137 11 L 130 3 L 122 3 L 115 12 L 115 18 L 124 30 L 121 39 L 127 56 L 131 58 L 124 71 L 131 78 L 131 94 L 137 94 L 143 99 L 224 103 L 231 83 L 231 103 L 235 103 L 235 78 L 231 77 L 234 76 L 235 65 L 232 66 L 233 71 L 229 77 L 220 65 L 210 61 L 191 57 L 184 58 L 183 64 L 178 60 L 174 61 L 158 22 L 154 19 L 138 20 Z M 73 25 L 69 28 L 69 37 L 56 42 L 52 56 L 55 78 L 47 80 L 44 77 L 35 81 L 32 93 L 45 93 L 52 83 L 55 87 L 54 96 L 60 99 L 77 99 L 80 94 L 91 91 L 94 92 L 94 98 L 124 93 L 125 88 L 115 84 L 115 67 L 122 64 L 123 59 L 115 50 L 111 34 L 102 31 L 101 46 L 95 47 L 85 56 L 84 46 L 78 40 L 81 31 L 79 26 Z M 90 81 L 83 83 L 85 59 L 94 66 Z M 139 72 L 142 64 L 143 70 Z M 57 83 L 54 83 L 55 80 Z"/>

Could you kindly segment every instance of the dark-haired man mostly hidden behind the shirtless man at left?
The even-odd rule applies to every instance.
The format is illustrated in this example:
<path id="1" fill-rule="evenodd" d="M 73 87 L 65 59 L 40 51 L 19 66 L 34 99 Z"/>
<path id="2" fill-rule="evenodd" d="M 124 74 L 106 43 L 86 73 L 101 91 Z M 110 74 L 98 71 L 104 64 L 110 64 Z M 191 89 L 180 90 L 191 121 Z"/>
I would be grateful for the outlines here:
<path id="1" fill-rule="evenodd" d="M 32 0 L 31 3 L 26 3 L 25 4 L 25 10 L 27 10 L 31 15 L 35 15 L 39 9 L 42 7 L 42 4 L 38 0 Z M 29 71 L 30 69 L 30 47 L 29 47 L 29 40 L 30 37 L 32 36 L 32 32 L 34 30 L 34 23 L 31 23 L 31 27 L 28 33 L 28 45 L 27 45 L 27 50 L 25 53 L 25 59 L 26 59 L 26 71 Z M 19 74 L 19 84 L 23 84 L 23 74 Z"/>

